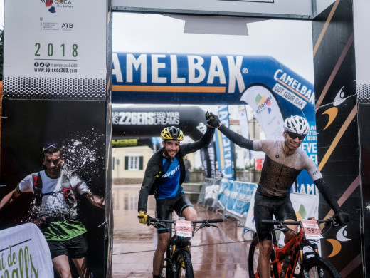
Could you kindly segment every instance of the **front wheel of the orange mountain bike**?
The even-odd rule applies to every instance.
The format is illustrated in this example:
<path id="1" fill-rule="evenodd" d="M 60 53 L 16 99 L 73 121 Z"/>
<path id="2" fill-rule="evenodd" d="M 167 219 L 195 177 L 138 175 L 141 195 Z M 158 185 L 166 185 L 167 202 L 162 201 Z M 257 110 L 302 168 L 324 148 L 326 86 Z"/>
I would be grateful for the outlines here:
<path id="1" fill-rule="evenodd" d="M 337 269 L 322 257 L 312 257 L 301 265 L 302 278 L 341 278 Z"/>

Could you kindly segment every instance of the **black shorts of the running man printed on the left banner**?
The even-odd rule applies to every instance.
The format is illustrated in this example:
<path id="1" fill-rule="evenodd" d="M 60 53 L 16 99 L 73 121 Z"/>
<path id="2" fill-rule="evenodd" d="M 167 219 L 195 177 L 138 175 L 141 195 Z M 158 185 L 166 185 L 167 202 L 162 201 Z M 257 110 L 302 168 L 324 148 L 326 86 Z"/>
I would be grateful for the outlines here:
<path id="1" fill-rule="evenodd" d="M 51 259 L 65 255 L 70 259 L 80 259 L 88 254 L 88 237 L 86 234 L 78 235 L 70 240 L 48 240 Z"/>

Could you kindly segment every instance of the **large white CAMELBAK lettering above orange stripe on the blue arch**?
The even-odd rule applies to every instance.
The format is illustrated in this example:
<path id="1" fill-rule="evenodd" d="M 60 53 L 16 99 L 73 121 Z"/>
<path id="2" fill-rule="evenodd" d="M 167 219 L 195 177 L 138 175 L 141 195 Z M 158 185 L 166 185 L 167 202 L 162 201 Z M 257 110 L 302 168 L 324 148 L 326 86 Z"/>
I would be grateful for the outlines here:
<path id="1" fill-rule="evenodd" d="M 181 88 L 179 90 L 187 90 L 181 92 L 241 93 L 245 88 L 243 74 L 248 74 L 248 70 L 242 68 L 243 56 L 213 55 L 206 60 L 197 55 L 125 53 L 119 59 L 117 53 L 113 53 L 112 63 L 113 78 L 117 83 L 125 83 L 122 91 Z"/>

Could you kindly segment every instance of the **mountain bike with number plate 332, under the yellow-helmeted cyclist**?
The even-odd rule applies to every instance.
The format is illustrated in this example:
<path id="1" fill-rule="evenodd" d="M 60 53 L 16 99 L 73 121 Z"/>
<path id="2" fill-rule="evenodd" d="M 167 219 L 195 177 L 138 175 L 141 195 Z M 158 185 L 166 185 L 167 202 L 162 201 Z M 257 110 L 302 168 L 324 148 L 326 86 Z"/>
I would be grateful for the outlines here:
<path id="1" fill-rule="evenodd" d="M 191 264 L 190 238 L 203 227 L 216 227 L 212 223 L 222 223 L 223 219 L 187 221 L 180 217 L 179 220 L 160 220 L 148 215 L 147 225 L 166 228 L 169 224 L 169 243 L 167 245 L 164 262 L 167 278 L 194 278 L 193 264 Z M 193 225 L 196 228 L 193 231 Z M 172 227 L 174 226 L 174 227 Z"/>

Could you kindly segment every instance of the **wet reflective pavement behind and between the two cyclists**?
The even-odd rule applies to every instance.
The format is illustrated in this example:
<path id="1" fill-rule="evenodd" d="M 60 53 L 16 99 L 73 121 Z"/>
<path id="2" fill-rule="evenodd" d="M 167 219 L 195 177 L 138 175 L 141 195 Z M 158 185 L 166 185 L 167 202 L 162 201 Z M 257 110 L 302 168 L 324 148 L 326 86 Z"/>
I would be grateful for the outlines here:
<path id="1" fill-rule="evenodd" d="M 157 244 L 154 227 L 137 220 L 139 185 L 113 185 L 112 278 L 152 277 Z M 148 215 L 154 217 L 154 197 L 149 196 Z M 198 219 L 221 218 L 220 212 L 195 205 Z M 215 227 L 205 227 L 191 240 L 194 276 L 199 278 L 248 277 L 250 233 L 242 236 L 240 222 L 228 217 Z"/>

